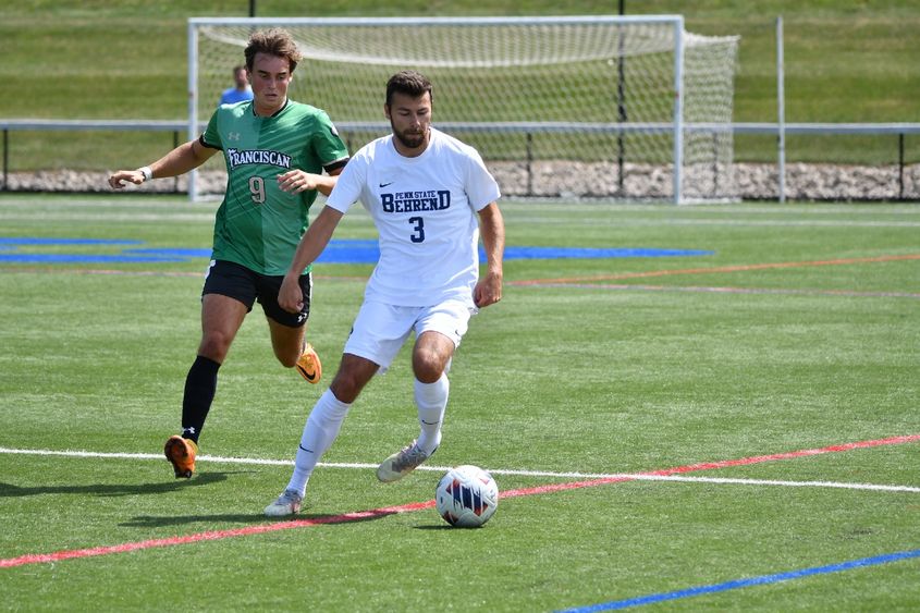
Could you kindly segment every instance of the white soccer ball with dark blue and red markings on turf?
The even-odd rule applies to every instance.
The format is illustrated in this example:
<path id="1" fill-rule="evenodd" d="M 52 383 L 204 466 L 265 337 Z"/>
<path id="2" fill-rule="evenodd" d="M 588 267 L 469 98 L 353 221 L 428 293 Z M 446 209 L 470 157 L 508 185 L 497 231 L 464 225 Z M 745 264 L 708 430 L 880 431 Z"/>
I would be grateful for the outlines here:
<path id="1" fill-rule="evenodd" d="M 438 481 L 434 503 L 451 526 L 478 528 L 499 507 L 499 486 L 478 466 L 456 466 Z"/>

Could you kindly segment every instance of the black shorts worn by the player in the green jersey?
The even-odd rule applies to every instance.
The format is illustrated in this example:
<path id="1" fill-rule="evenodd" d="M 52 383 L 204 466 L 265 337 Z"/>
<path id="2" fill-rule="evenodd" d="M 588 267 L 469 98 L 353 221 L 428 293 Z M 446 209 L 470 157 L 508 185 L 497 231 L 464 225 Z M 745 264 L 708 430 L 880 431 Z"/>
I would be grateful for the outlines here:
<path id="1" fill-rule="evenodd" d="M 219 294 L 237 299 L 246 305 L 247 312 L 253 310 L 253 304 L 258 299 L 266 317 L 289 328 L 300 328 L 310 316 L 312 277 L 310 273 L 300 275 L 304 308 L 299 314 L 287 312 L 278 304 L 278 292 L 281 290 L 282 281 L 284 281 L 283 275 L 259 274 L 236 262 L 214 260 L 208 268 L 201 295 Z"/>

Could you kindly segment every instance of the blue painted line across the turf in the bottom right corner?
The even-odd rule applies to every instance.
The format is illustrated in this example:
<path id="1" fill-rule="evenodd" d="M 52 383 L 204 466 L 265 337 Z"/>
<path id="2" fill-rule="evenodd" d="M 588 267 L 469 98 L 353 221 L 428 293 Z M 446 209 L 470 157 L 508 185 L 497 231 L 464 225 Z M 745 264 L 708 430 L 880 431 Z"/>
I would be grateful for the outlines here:
<path id="1" fill-rule="evenodd" d="M 638 596 L 636 598 L 627 598 L 625 600 L 613 600 L 611 602 L 601 602 L 599 604 L 590 604 L 587 606 L 576 606 L 574 609 L 563 609 L 559 613 L 592 613 L 594 611 L 615 611 L 618 609 L 627 609 L 629 606 L 642 606 L 645 604 L 654 604 L 657 602 L 664 602 L 667 600 L 678 600 L 682 598 L 691 598 L 694 596 L 702 596 L 707 593 L 716 593 L 721 591 L 728 591 L 738 588 L 747 588 L 751 586 L 762 586 L 769 584 L 777 584 L 780 581 L 790 581 L 793 579 L 801 579 L 804 577 L 811 577 L 813 575 L 825 575 L 827 573 L 841 573 L 843 571 L 851 571 L 852 568 L 861 568 L 863 566 L 875 566 L 878 564 L 888 564 L 891 562 L 899 562 L 901 560 L 909 560 L 912 557 L 920 557 L 920 549 L 910 551 L 899 551 L 897 553 L 886 553 L 883 555 L 873 555 L 872 557 L 861 557 L 859 560 L 850 560 L 848 562 L 841 562 L 838 564 L 829 564 L 826 566 L 814 566 L 812 568 L 802 568 L 800 571 L 789 571 L 787 573 L 776 573 L 775 575 L 761 575 L 760 577 L 750 577 L 747 579 L 735 579 L 733 581 L 725 581 L 724 584 L 715 584 L 711 586 L 699 586 L 695 588 L 687 588 L 675 591 L 666 591 L 661 593 L 651 593 L 648 596 Z"/>

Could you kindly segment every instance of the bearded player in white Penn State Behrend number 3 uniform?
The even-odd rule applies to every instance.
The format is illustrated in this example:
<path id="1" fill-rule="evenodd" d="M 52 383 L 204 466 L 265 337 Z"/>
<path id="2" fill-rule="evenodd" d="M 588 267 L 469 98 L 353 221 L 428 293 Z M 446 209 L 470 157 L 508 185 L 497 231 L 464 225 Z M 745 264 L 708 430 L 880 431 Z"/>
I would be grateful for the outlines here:
<path id="1" fill-rule="evenodd" d="M 392 134 L 368 144 L 347 163 L 326 207 L 307 230 L 279 292 L 279 304 L 303 303 L 297 271 L 315 261 L 355 201 L 380 234 L 380 260 L 342 355 L 339 371 L 307 418 L 294 473 L 265 514 L 300 510 L 307 481 L 361 389 L 385 370 L 412 332 L 415 402 L 420 432 L 377 469 L 395 481 L 425 462 L 441 442 L 447 405 L 446 372 L 478 308 L 502 297 L 504 221 L 499 186 L 479 154 L 431 127 L 432 88 L 414 71 L 387 84 L 384 114 Z M 478 220 L 477 220 L 478 217 Z M 479 279 L 479 235 L 488 260 Z"/>

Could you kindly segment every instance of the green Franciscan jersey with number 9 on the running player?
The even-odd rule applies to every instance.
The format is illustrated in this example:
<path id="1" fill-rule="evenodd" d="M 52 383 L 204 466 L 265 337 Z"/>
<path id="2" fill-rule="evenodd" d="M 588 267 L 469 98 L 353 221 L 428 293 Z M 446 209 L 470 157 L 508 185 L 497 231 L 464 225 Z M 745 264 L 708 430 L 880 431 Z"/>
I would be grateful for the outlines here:
<path id="1" fill-rule="evenodd" d="M 319 174 L 347 160 L 329 115 L 291 100 L 268 118 L 256 115 L 252 101 L 226 105 L 211 115 L 201 143 L 223 150 L 228 173 L 211 258 L 284 274 L 317 193 L 282 192 L 278 175 L 293 169 Z"/>

